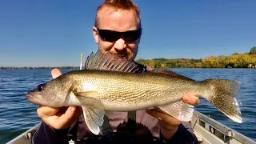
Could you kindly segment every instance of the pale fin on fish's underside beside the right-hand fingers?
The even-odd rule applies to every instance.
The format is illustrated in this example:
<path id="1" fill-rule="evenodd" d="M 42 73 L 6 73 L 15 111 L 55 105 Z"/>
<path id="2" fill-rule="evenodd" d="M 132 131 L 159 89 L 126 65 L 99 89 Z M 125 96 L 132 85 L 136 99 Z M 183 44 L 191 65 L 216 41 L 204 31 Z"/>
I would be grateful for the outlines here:
<path id="1" fill-rule="evenodd" d="M 182 122 L 190 121 L 194 112 L 194 106 L 182 101 L 167 106 L 159 106 L 159 108 L 166 112 L 166 114 L 169 114 Z"/>

